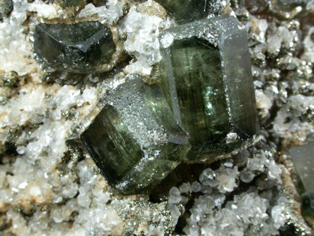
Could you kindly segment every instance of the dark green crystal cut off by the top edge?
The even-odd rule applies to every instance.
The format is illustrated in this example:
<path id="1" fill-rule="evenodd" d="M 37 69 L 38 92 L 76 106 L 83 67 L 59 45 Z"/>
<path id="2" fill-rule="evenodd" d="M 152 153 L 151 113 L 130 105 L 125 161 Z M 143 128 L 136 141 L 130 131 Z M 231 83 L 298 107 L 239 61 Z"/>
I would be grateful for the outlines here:
<path id="1" fill-rule="evenodd" d="M 188 23 L 206 18 L 209 0 L 156 0 L 178 23 Z"/>

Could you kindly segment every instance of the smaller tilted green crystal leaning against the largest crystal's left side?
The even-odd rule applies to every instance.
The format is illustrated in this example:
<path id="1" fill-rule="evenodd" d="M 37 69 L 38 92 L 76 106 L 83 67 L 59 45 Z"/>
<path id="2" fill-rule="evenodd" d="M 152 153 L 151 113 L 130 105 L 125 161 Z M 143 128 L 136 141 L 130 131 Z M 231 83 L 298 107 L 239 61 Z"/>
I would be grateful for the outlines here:
<path id="1" fill-rule="evenodd" d="M 190 144 L 158 85 L 122 84 L 81 135 L 107 183 L 143 193 L 185 157 Z"/>

